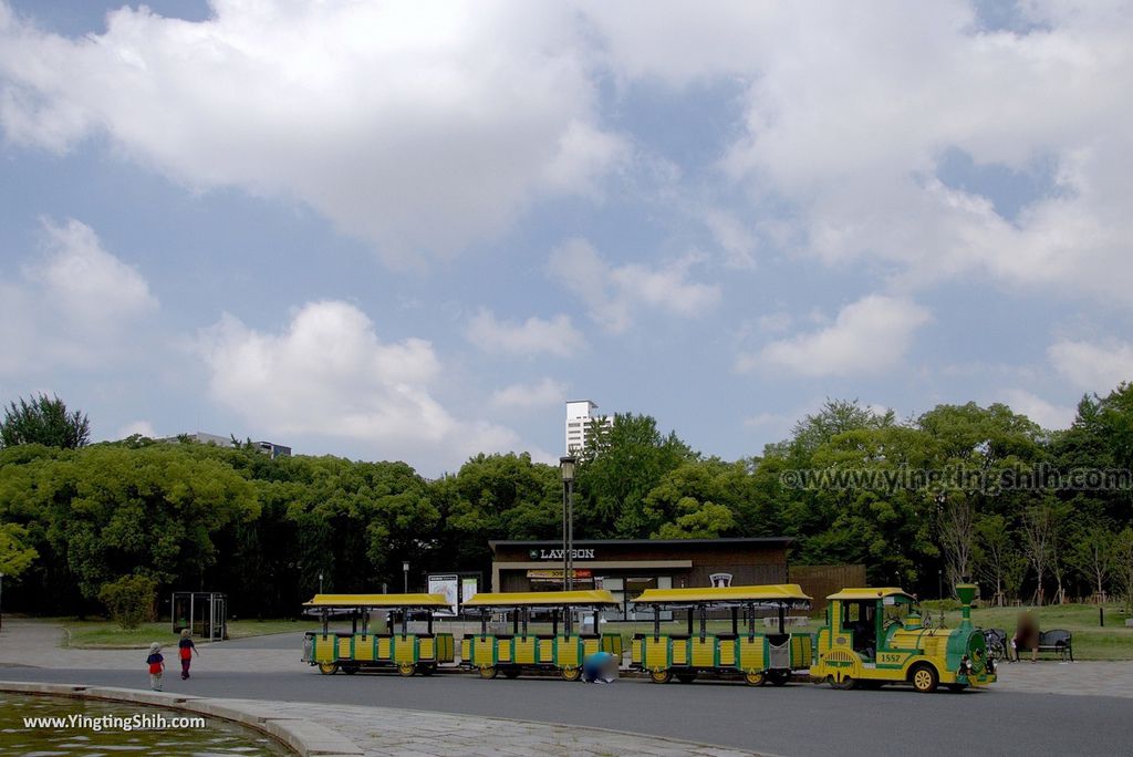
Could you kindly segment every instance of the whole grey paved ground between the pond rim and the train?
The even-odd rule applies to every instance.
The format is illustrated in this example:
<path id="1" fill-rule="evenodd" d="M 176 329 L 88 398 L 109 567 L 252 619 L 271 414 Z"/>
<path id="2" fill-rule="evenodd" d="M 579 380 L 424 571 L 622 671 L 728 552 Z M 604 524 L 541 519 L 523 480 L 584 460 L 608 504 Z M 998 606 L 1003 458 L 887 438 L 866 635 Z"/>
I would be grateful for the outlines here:
<path id="1" fill-rule="evenodd" d="M 60 649 L 58 639 L 46 623 L 6 622 L 0 679 L 146 688 L 144 650 Z M 255 703 L 275 718 L 307 718 L 348 737 L 357 745 L 353 754 L 802 757 L 838 749 L 904 755 L 910 743 L 919 755 L 1130 751 L 1130 662 L 1004 664 L 999 684 L 989 690 L 925 696 L 802 683 L 751 689 L 713 681 L 586 686 L 462 674 L 320 675 L 299 661 L 300 648 L 296 633 L 202 645 L 194 678 L 169 675 L 165 688 L 174 696 Z M 816 729 L 819 721 L 824 726 Z"/>

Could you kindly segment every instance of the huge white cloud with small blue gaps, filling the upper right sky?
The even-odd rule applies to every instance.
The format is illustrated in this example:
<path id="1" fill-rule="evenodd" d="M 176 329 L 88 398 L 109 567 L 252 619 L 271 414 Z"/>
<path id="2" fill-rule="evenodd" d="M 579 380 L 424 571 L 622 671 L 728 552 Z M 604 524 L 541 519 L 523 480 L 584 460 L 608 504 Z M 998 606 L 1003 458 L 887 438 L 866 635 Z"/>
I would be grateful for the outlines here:
<path id="1" fill-rule="evenodd" d="M 1028 2 L 1034 31 L 988 31 L 977 3 L 587 5 L 622 80 L 740 82 L 743 134 L 721 169 L 787 207 L 800 255 L 877 263 L 902 287 L 986 274 L 1100 296 L 1133 287 L 1133 8 Z M 1025 24 L 1024 24 L 1025 26 Z M 674 56 L 672 51 L 680 50 Z M 1014 218 L 936 178 L 942 155 L 1053 186 Z"/>

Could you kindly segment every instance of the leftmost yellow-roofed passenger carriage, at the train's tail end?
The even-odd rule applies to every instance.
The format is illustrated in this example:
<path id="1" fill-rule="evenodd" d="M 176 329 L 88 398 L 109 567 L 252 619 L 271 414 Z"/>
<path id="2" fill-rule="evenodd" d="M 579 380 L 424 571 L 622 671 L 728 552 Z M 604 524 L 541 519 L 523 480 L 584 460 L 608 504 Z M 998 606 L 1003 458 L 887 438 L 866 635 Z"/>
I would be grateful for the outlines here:
<path id="1" fill-rule="evenodd" d="M 304 662 L 317 665 L 321 673 L 386 669 L 429 675 L 438 665 L 455 662 L 452 633 L 433 632 L 433 612 L 450 609 L 442 594 L 317 594 L 304 606 L 322 619 L 321 631 L 307 631 L 303 650 Z M 375 611 L 389 619 L 376 631 L 370 628 Z M 414 612 L 425 615 L 425 632 L 409 631 Z M 332 631 L 332 614 L 348 616 L 350 630 Z"/>

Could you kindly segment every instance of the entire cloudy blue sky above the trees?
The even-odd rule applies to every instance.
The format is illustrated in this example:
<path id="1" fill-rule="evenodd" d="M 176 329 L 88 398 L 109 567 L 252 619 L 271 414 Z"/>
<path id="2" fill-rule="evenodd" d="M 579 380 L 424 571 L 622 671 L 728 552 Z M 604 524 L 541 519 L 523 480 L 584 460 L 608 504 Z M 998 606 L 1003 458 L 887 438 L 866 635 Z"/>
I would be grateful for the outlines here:
<path id="1" fill-rule="evenodd" d="M 1133 378 L 1133 5 L 0 0 L 0 399 L 96 440 L 759 454 Z"/>

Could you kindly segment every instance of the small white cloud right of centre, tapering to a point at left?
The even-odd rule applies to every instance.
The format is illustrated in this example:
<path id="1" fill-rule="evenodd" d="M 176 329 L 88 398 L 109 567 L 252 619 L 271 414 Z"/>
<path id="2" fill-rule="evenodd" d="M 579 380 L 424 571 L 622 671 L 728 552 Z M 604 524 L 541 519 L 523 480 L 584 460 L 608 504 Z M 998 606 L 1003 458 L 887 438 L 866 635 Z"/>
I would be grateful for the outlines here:
<path id="1" fill-rule="evenodd" d="M 929 320 L 928 311 L 911 300 L 870 295 L 842 308 L 829 326 L 774 341 L 758 355 L 742 356 L 736 367 L 778 367 L 810 377 L 877 374 L 901 363 Z"/>

